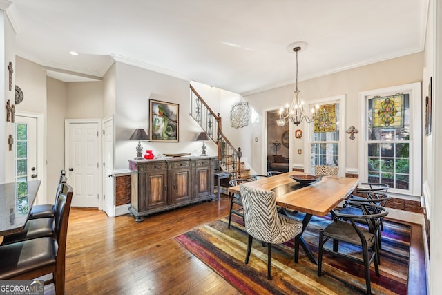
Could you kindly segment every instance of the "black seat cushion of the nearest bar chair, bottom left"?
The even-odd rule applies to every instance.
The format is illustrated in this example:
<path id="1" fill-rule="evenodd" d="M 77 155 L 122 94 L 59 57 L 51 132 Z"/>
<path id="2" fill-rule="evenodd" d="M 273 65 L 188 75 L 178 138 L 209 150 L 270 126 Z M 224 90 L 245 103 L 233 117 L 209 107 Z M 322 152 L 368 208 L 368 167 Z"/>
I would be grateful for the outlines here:
<path id="1" fill-rule="evenodd" d="M 55 265 L 57 249 L 57 240 L 48 237 L 1 245 L 0 280 Z"/>

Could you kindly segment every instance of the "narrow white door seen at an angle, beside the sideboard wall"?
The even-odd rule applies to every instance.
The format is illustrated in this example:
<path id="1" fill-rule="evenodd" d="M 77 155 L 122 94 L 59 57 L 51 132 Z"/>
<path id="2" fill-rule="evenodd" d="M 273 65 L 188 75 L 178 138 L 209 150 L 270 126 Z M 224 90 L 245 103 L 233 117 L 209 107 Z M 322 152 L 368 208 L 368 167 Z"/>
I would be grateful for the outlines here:
<path id="1" fill-rule="evenodd" d="M 103 209 L 115 216 L 113 194 L 113 118 L 103 123 Z"/>

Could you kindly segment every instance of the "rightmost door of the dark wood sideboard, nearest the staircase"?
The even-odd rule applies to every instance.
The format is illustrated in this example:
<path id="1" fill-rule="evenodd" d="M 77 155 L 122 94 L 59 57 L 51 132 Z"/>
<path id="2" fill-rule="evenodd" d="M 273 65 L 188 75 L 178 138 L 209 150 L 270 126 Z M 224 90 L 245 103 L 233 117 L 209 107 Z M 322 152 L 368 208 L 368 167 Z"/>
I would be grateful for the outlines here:
<path id="1" fill-rule="evenodd" d="M 213 167 L 211 160 L 196 160 L 194 198 L 205 198 L 213 195 Z"/>

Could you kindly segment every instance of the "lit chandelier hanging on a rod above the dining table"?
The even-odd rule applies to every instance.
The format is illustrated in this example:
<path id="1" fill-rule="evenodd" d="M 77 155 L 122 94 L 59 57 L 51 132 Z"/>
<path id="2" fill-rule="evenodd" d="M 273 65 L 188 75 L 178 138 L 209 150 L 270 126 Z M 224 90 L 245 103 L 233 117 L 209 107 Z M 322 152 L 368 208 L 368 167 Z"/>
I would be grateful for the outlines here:
<path id="1" fill-rule="evenodd" d="M 284 126 L 289 120 L 296 126 L 298 126 L 302 120 L 311 123 L 314 121 L 315 116 L 318 115 L 318 104 L 316 104 L 316 107 L 311 108 L 310 112 L 305 110 L 304 101 L 301 99 L 299 94 L 300 91 L 298 89 L 298 52 L 301 50 L 301 45 L 304 44 L 304 42 L 298 42 L 291 44 L 288 47 L 289 50 L 293 50 L 294 53 L 296 53 L 296 88 L 291 104 L 286 104 L 284 107 L 280 108 L 279 117 L 276 120 L 278 126 Z"/>

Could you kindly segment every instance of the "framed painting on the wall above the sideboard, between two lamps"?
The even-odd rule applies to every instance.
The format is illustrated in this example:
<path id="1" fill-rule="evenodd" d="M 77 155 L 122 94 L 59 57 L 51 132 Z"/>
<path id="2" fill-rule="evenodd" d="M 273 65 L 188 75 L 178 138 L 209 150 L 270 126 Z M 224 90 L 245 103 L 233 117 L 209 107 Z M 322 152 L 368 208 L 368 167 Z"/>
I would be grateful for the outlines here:
<path id="1" fill-rule="evenodd" d="M 151 142 L 178 142 L 180 140 L 180 105 L 149 99 L 149 135 Z"/>

